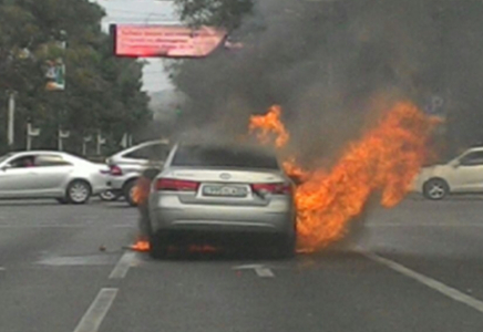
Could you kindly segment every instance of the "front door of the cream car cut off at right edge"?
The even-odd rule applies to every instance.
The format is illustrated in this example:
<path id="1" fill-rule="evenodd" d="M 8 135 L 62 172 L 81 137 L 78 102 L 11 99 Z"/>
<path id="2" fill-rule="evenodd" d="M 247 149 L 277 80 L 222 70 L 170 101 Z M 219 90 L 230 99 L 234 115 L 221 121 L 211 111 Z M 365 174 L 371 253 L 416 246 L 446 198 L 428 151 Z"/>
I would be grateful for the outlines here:
<path id="1" fill-rule="evenodd" d="M 483 193 L 483 151 L 463 155 L 454 166 L 456 191 Z"/>

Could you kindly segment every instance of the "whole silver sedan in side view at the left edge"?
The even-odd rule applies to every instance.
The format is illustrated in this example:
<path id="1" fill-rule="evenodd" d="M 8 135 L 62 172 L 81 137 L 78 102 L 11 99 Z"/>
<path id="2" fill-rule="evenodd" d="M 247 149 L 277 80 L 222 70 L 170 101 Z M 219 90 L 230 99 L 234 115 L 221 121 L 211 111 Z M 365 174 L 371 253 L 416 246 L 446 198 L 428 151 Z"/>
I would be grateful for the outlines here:
<path id="1" fill-rule="evenodd" d="M 85 204 L 109 188 L 109 167 L 51 151 L 0 157 L 0 198 L 55 198 Z"/>

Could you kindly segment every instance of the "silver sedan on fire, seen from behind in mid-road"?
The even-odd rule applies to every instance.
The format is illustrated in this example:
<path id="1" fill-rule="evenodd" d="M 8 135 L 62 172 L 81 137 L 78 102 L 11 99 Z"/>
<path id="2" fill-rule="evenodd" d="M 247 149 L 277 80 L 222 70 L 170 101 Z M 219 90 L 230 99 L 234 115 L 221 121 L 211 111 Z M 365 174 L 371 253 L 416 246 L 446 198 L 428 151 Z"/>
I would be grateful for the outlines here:
<path id="1" fill-rule="evenodd" d="M 294 184 L 276 156 L 254 146 L 178 144 L 150 194 L 154 258 L 189 234 L 266 236 L 280 256 L 296 242 Z M 267 243 L 268 243 L 267 242 Z"/>

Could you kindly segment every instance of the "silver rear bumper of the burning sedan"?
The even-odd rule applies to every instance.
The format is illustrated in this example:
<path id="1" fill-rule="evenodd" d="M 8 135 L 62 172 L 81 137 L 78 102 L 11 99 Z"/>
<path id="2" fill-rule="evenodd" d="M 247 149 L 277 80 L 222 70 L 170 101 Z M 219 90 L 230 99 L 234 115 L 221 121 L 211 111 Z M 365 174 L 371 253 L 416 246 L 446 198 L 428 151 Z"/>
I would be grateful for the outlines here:
<path id="1" fill-rule="evenodd" d="M 153 231 L 295 235 L 294 208 L 284 205 L 254 207 L 158 204 L 150 209 L 150 219 Z"/>

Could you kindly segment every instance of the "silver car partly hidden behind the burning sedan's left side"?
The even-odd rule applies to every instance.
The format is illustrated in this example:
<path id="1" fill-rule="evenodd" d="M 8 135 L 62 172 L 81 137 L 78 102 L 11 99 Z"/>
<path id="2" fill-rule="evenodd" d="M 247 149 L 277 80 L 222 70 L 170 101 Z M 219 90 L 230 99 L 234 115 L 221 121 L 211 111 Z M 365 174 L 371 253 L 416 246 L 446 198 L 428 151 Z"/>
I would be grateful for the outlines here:
<path id="1" fill-rule="evenodd" d="M 133 193 L 141 173 L 147 167 L 161 169 L 168 152 L 168 141 L 160 139 L 132 146 L 109 157 L 106 164 L 111 169 L 110 194 L 124 196 L 131 206 L 135 206 Z"/>

